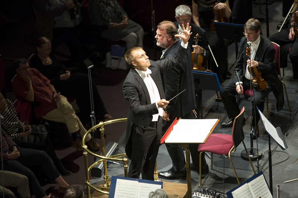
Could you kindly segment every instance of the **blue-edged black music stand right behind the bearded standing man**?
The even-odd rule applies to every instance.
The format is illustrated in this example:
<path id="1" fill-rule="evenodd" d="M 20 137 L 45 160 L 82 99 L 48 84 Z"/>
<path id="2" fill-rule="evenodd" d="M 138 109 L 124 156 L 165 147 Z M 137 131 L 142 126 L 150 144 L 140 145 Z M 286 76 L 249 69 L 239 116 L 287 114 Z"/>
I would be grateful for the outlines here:
<path id="1" fill-rule="evenodd" d="M 221 84 L 219 83 L 216 73 L 193 71 L 193 81 L 195 83 L 195 100 L 197 101 L 197 112 L 201 106 L 201 119 L 203 119 L 202 109 L 202 93 L 199 89 L 221 91 Z"/>

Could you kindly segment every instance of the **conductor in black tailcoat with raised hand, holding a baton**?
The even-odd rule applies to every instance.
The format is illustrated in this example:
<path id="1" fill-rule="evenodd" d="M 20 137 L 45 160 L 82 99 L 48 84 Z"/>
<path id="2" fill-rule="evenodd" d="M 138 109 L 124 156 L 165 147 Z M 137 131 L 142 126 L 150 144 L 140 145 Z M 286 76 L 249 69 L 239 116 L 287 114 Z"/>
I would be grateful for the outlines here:
<path id="1" fill-rule="evenodd" d="M 169 101 L 165 100 L 161 72 L 179 64 L 186 51 L 191 27 L 186 26 L 183 33 L 176 34 L 182 43 L 175 56 L 152 61 L 139 47 L 125 53 L 131 70 L 123 83 L 124 98 L 128 101 L 129 111 L 126 128 L 125 153 L 131 159 L 128 177 L 154 180 L 154 167 L 162 137 L 162 109 Z"/>

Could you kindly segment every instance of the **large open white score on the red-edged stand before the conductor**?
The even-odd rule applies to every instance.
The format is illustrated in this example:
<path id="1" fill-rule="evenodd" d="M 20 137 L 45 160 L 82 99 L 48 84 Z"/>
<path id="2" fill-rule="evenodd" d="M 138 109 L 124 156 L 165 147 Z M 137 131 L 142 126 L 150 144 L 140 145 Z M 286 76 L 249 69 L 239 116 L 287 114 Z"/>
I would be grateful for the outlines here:
<path id="1" fill-rule="evenodd" d="M 166 143 L 202 143 L 218 119 L 180 119 Z"/>

